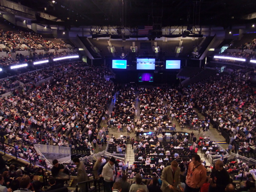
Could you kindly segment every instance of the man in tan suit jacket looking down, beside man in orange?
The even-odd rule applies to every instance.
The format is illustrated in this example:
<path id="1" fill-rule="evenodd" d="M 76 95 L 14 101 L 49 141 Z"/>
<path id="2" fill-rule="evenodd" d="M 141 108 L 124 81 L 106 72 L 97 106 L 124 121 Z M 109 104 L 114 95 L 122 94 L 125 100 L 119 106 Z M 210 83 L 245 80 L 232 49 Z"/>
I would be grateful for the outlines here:
<path id="1" fill-rule="evenodd" d="M 177 161 L 172 161 L 170 166 L 163 169 L 161 178 L 163 181 L 162 192 L 184 191 L 180 185 L 180 167 L 178 167 Z"/>

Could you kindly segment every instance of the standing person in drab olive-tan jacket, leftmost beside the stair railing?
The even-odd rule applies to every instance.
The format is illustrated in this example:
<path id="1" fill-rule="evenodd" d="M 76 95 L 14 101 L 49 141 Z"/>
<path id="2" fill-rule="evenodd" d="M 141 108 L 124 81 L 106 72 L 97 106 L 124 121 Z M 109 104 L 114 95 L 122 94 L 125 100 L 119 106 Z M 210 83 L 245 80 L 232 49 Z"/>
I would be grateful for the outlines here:
<path id="1" fill-rule="evenodd" d="M 77 182 L 82 182 L 82 181 L 87 181 L 89 180 L 89 177 L 86 173 L 85 167 L 84 167 L 84 162 L 80 161 L 78 157 L 75 157 L 73 159 L 74 164 L 77 166 Z M 79 185 L 80 192 L 85 192 L 86 191 L 86 184 L 80 184 Z"/>

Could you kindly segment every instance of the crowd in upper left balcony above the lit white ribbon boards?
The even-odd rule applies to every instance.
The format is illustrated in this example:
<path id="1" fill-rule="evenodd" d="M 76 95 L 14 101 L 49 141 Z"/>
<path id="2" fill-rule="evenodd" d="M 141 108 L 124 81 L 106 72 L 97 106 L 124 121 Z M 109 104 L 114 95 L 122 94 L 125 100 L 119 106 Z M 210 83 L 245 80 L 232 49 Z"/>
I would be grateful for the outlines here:
<path id="1" fill-rule="evenodd" d="M 1 67 L 27 62 L 29 60 L 38 61 L 49 58 L 77 54 L 74 52 L 66 51 L 56 52 L 56 50 L 58 49 L 68 48 L 64 41 L 61 41 L 61 43 L 55 43 L 44 39 L 41 35 L 36 34 L 34 32 L 20 31 L 19 33 L 15 33 L 12 31 L 3 31 L 1 29 L 0 44 L 6 46 L 5 49 L 0 48 L 0 52 L 4 51 L 8 54 L 0 58 Z M 55 52 L 47 52 L 45 54 L 43 52 L 40 52 L 39 54 L 35 52 L 35 50 L 41 49 L 43 49 L 44 51 L 49 51 L 49 49 L 55 49 Z M 31 55 L 24 56 L 22 54 L 17 53 L 16 57 L 12 56 L 12 53 L 23 50 L 29 50 L 31 52 Z"/>

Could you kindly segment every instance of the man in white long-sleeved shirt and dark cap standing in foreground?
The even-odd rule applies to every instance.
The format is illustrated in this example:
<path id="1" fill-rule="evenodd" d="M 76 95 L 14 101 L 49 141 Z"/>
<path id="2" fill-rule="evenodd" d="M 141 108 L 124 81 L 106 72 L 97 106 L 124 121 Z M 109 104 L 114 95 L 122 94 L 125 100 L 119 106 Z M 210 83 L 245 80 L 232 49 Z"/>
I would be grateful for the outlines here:
<path id="1" fill-rule="evenodd" d="M 104 181 L 105 181 L 106 192 L 111 192 L 111 188 L 115 180 L 115 175 L 116 175 L 115 163 L 116 163 L 115 158 L 111 157 L 109 162 L 106 163 L 106 165 L 102 169 L 102 177 L 104 178 Z"/>

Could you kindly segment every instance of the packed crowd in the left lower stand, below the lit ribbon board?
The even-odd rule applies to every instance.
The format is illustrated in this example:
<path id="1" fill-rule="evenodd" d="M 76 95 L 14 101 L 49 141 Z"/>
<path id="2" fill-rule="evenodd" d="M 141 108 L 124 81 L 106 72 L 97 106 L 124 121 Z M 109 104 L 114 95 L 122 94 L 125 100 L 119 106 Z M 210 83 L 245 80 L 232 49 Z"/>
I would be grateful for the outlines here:
<path id="1" fill-rule="evenodd" d="M 49 70 L 30 76 L 44 76 Z M 18 156 L 35 161 L 40 160 L 38 154 L 24 150 L 22 143 L 90 150 L 93 131 L 98 134 L 98 121 L 114 91 L 104 78 L 107 71 L 84 68 L 80 62 L 66 64 L 54 71 L 52 81 L 39 87 L 27 84 L 20 93 L 1 98 L 1 139 L 9 138 L 17 144 Z"/>

